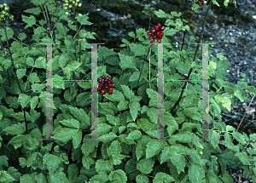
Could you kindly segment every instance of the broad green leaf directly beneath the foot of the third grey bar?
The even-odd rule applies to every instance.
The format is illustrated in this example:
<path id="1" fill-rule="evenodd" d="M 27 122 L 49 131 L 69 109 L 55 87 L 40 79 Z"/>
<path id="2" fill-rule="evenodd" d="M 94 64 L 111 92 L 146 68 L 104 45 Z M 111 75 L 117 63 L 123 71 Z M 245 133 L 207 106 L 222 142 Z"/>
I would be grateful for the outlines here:
<path id="1" fill-rule="evenodd" d="M 167 143 L 166 143 L 166 141 L 163 141 L 163 140 L 161 140 L 161 141 L 158 141 L 158 140 L 149 141 L 148 144 L 147 144 L 147 149 L 146 149 L 146 158 L 154 157 L 162 149 L 164 149 L 165 146 L 167 146 Z"/>

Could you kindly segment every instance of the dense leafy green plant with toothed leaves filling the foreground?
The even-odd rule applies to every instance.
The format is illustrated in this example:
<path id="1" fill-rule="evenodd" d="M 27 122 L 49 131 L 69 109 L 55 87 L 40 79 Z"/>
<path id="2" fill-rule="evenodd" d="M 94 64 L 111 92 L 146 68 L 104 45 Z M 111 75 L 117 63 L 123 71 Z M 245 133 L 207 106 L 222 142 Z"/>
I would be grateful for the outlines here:
<path id="1" fill-rule="evenodd" d="M 229 167 L 243 167 L 243 175 L 252 175 L 253 182 L 256 182 L 256 159 L 253 157 L 256 154 L 253 143 L 256 134 L 241 134 L 225 125 L 220 116 L 221 111 L 228 112 L 231 105 L 236 105 L 236 98 L 248 100 L 243 89 L 252 95 L 256 94 L 256 89 L 247 86 L 245 79 L 241 79 L 237 87 L 224 81 L 230 63 L 222 54 L 209 60 L 208 74 L 210 106 L 207 110 L 212 115 L 209 123 L 213 125 L 213 129 L 208 131 L 209 139 L 216 140 L 196 140 L 202 136 L 201 83 L 192 84 L 192 81 L 202 79 L 202 61 L 198 60 L 202 50 L 199 44 L 196 49 L 190 46 L 195 42 L 192 36 L 189 40 L 183 38 L 178 49 L 170 43 L 168 37 L 177 31 L 184 31 L 184 37 L 189 31 L 189 26 L 183 26 L 188 21 L 180 19 L 181 13 L 167 14 L 161 9 L 152 11 L 148 6 L 143 12 L 150 17 L 154 13 L 165 20 L 162 40 L 170 43 L 163 49 L 163 76 L 166 79 L 163 128 L 166 140 L 150 140 L 158 138 L 158 126 L 161 126 L 157 116 L 157 91 L 161 83 L 156 80 L 160 45 L 150 45 L 143 28 L 129 32 L 134 42 L 123 39 L 120 47 L 124 49 L 118 54 L 99 45 L 97 74 L 102 76 L 101 79 L 110 76 L 111 80 L 109 77 L 106 79 L 114 82 L 115 91 L 104 94 L 103 100 L 101 94 L 98 96 L 101 102 L 96 128 L 90 120 L 95 116 L 90 112 L 93 53 L 90 52 L 91 46 L 85 44 L 88 39 L 94 39 L 94 34 L 79 28 L 79 24 L 92 24 L 88 21 L 88 14 L 75 15 L 74 5 L 79 1 L 71 0 L 67 5 L 69 2 L 66 0 L 63 9 L 56 8 L 54 1 L 31 2 L 41 9 L 27 9 L 26 13 L 45 14 L 45 20 L 39 21 L 40 26 L 34 16 L 22 15 L 25 29 L 34 28 L 32 38 L 36 43 L 31 48 L 22 43 L 26 38 L 23 32 L 19 34 L 19 40 L 9 45 L 8 40 L 14 38 L 14 31 L 11 27 L 5 31 L 4 20 L 0 30 L 1 40 L 7 42 L 9 51 L 7 54 L 3 49 L 0 57 L 1 182 L 232 182 L 230 174 L 225 171 Z M 191 9 L 199 8 L 197 1 L 191 2 L 194 3 Z M 216 0 L 208 2 L 198 43 L 201 43 L 212 3 L 218 5 Z M 224 5 L 227 4 L 228 0 L 225 0 Z M 75 17 L 68 15 L 71 10 L 67 7 L 73 8 Z M 68 28 L 60 20 L 67 21 Z M 48 30 L 44 36 L 44 26 L 53 31 Z M 77 31 L 78 37 L 67 35 L 70 29 Z M 48 134 L 45 121 L 49 91 L 45 90 L 47 53 L 40 43 L 55 43 L 52 47 L 53 79 L 67 80 L 53 82 L 52 110 L 55 118 L 50 135 L 52 140 L 41 140 Z M 211 47 L 209 49 L 211 53 Z M 242 77 L 245 78 L 245 74 Z M 69 79 L 88 82 L 73 83 Z M 174 80 L 183 82 L 172 82 Z M 220 122 L 217 123 L 214 117 Z M 84 140 L 95 133 L 98 133 L 99 140 Z M 219 133 L 224 134 L 221 142 L 224 151 L 220 149 Z M 231 137 L 236 140 L 234 143 Z M 248 169 L 249 165 L 253 167 L 252 171 Z"/>

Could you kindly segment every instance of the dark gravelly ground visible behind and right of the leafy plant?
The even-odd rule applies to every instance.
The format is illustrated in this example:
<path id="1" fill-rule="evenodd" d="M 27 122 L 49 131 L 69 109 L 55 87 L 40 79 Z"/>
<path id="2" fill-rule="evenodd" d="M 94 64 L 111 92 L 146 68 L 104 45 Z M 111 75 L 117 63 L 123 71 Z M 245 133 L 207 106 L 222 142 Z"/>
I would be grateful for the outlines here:
<path id="1" fill-rule="evenodd" d="M 34 15 L 23 12 L 25 9 L 32 8 L 31 3 L 29 3 L 29 1 L 20 0 L 4 0 L 2 2 L 8 3 L 10 6 L 9 13 L 15 15 L 14 21 L 6 21 L 7 26 L 10 26 L 15 31 L 15 39 L 17 39 L 18 34 L 23 31 L 27 35 L 23 43 L 26 43 L 26 45 L 34 43 L 32 40 L 32 28 L 24 29 L 26 24 L 22 22 L 21 18 L 21 14 L 25 14 L 26 16 Z M 162 9 L 166 13 L 172 11 L 182 12 L 183 19 L 189 21 L 192 13 L 190 8 L 192 3 L 182 0 L 183 3 L 180 5 L 179 2 L 179 0 L 173 0 L 172 2 L 168 0 L 83 0 L 80 1 L 83 6 L 76 8 L 76 13 L 89 13 L 89 21 L 92 22 L 93 25 L 81 27 L 81 29 L 86 31 L 96 32 L 96 40 L 88 40 L 89 43 L 106 43 L 104 46 L 108 47 L 108 49 L 119 52 L 119 50 L 122 49 L 119 45 L 122 44 L 123 38 L 130 42 L 134 41 L 133 38 L 128 36 L 130 31 L 135 32 L 139 28 L 144 28 L 147 31 L 150 26 L 153 26 L 157 22 L 164 24 L 165 19 L 157 18 L 155 15 L 150 17 L 142 13 L 145 4 L 150 4 L 155 10 Z M 227 76 L 226 81 L 237 85 L 237 81 L 242 78 L 241 73 L 245 73 L 247 75 L 246 79 L 250 82 L 248 85 L 255 86 L 256 2 L 250 0 L 236 1 L 236 8 L 232 3 L 233 1 L 230 1 L 227 9 L 224 8 L 222 2 L 223 1 L 218 0 L 220 8 L 213 4 L 211 6 L 202 43 L 206 43 L 206 41 L 216 42 L 217 44 L 212 46 L 212 55 L 216 56 L 218 53 L 223 53 L 228 61 L 230 61 L 230 67 L 227 70 L 230 75 Z M 61 6 L 62 2 L 57 4 Z M 189 24 L 191 31 L 186 32 L 186 38 L 193 35 L 196 37 L 195 41 L 199 40 L 206 9 L 207 5 L 195 12 Z M 34 16 L 36 17 L 38 25 L 38 21 L 44 19 L 44 16 Z M 67 26 L 65 22 L 62 23 Z M 68 34 L 74 36 L 75 32 L 69 31 Z M 171 39 L 171 43 L 181 45 L 183 31 L 179 31 L 175 36 L 169 38 Z M 10 43 L 12 42 L 13 41 L 10 41 Z M 3 43 L 3 45 L 4 48 L 7 48 L 6 43 Z M 223 121 L 236 129 L 241 123 L 238 131 L 249 135 L 256 133 L 256 100 L 252 95 L 247 93 L 246 95 L 248 99 L 252 101 L 241 102 L 237 100 L 236 106 L 232 107 L 231 112 L 223 112 L 222 115 Z M 247 113 L 244 117 L 245 109 L 247 109 L 249 104 L 251 112 Z M 234 143 L 235 145 L 237 144 L 236 140 Z M 243 169 L 241 169 L 241 167 L 237 169 L 229 168 L 227 172 L 232 176 L 234 182 L 253 182 L 251 176 L 247 178 L 242 177 Z"/>

